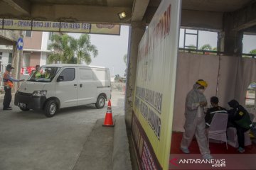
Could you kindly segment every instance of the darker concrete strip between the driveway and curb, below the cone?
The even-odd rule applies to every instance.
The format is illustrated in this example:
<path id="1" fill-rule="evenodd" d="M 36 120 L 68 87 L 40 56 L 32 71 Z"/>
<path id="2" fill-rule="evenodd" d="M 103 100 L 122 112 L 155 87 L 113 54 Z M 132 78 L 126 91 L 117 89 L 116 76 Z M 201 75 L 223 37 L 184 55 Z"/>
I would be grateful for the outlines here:
<path id="1" fill-rule="evenodd" d="M 104 119 L 97 120 L 73 170 L 112 169 L 114 128 L 102 127 L 103 122 Z"/>

